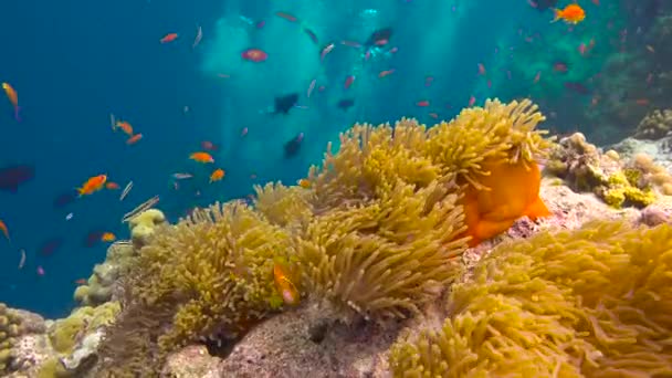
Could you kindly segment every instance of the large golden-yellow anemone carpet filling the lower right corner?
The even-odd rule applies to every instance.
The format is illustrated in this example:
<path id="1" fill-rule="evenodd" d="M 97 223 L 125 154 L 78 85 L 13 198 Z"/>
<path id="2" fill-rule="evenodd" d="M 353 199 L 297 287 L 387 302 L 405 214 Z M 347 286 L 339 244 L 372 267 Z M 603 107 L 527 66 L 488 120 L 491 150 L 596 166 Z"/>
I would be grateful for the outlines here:
<path id="1" fill-rule="evenodd" d="M 392 347 L 400 377 L 672 375 L 672 227 L 592 222 L 498 245 L 442 329 Z"/>

